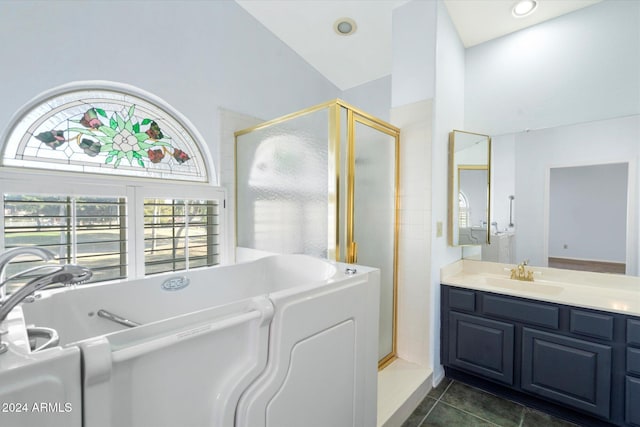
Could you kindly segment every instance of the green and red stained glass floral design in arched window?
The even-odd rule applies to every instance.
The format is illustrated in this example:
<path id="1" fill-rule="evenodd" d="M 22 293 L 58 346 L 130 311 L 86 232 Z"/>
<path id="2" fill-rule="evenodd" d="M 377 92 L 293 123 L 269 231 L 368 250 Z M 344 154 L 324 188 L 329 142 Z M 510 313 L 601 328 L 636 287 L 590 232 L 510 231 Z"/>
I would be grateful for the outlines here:
<path id="1" fill-rule="evenodd" d="M 135 109 L 136 106 L 131 105 L 126 113 L 114 111 L 109 116 L 104 109 L 91 107 L 79 119 L 69 120 L 82 127 L 41 132 L 35 138 L 54 150 L 76 141 L 86 155 L 104 155 L 104 163 L 114 168 L 123 160 L 140 167 L 145 167 L 145 160 L 159 163 L 165 158 L 165 153 L 172 153 L 178 164 L 190 159 L 187 153 L 172 146 L 171 137 L 163 134 L 157 122 L 150 118 L 137 118 Z"/>

